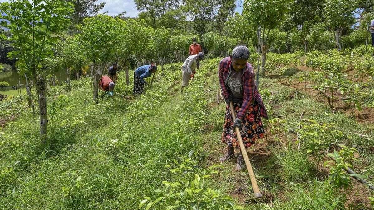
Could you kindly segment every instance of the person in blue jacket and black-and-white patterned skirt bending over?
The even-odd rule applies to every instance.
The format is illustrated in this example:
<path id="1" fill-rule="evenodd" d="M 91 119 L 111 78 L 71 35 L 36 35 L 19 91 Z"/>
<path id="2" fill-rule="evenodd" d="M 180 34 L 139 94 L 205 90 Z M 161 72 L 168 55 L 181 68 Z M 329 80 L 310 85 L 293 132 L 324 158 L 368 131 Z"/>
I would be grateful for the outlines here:
<path id="1" fill-rule="evenodd" d="M 156 64 L 144 65 L 138 67 L 134 72 L 134 94 L 142 94 L 144 92 L 144 84 L 147 82 L 144 78 L 150 77 L 157 70 Z"/>

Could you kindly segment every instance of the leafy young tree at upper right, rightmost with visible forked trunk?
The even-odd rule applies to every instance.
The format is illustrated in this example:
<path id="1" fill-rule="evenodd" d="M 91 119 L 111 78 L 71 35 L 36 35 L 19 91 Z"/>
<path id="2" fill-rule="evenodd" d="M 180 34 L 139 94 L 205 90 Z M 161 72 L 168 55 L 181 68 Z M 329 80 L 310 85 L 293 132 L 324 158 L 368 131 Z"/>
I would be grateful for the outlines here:
<path id="1" fill-rule="evenodd" d="M 338 51 L 341 50 L 340 37 L 343 30 L 355 22 L 353 11 L 356 7 L 356 0 L 326 0 L 324 16 L 334 32 Z"/>

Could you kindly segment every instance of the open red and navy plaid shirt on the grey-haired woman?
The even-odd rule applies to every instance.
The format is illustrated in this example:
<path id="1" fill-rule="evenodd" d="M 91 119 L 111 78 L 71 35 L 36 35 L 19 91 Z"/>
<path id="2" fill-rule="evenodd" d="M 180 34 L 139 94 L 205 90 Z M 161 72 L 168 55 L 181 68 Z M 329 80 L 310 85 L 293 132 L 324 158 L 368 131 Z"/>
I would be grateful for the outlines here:
<path id="1" fill-rule="evenodd" d="M 218 67 L 220 77 L 220 84 L 221 89 L 223 91 L 223 96 L 225 99 L 230 97 L 229 87 L 226 86 L 226 79 L 230 76 L 231 72 L 231 59 L 230 57 L 226 57 L 220 61 L 220 65 Z M 233 70 L 234 71 L 234 70 Z M 254 70 L 247 62 L 246 67 L 242 70 L 242 83 L 244 87 L 244 96 L 243 96 L 243 104 L 240 111 L 237 113 L 237 118 L 243 120 L 245 114 L 248 112 L 249 106 L 252 103 L 252 100 L 255 99 L 258 104 L 260 104 L 260 115 L 268 119 L 266 108 L 264 102 L 262 101 L 261 94 L 258 92 L 257 86 L 255 84 L 255 73 Z"/>

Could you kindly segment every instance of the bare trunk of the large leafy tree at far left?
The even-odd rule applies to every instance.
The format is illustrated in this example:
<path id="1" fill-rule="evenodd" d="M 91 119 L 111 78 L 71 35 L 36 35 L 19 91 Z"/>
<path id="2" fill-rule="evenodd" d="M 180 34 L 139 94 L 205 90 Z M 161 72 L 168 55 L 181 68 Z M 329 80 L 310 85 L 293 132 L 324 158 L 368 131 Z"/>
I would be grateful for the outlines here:
<path id="1" fill-rule="evenodd" d="M 39 135 L 42 143 L 47 143 L 47 127 L 48 127 L 48 118 L 47 118 L 47 98 L 46 98 L 46 83 L 42 76 L 34 74 L 35 77 L 35 87 L 36 92 L 38 93 L 39 99 L 39 118 L 40 118 L 40 130 Z"/>

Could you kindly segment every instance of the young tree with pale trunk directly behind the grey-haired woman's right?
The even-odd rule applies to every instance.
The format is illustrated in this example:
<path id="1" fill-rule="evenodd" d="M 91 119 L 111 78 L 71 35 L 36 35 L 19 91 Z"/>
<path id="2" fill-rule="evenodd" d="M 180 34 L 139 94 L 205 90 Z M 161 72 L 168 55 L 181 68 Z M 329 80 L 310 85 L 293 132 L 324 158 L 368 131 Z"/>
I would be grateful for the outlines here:
<path id="1" fill-rule="evenodd" d="M 265 75 L 267 38 L 270 30 L 278 27 L 288 12 L 289 0 L 246 0 L 243 5 L 243 14 L 254 26 L 254 30 L 261 27 L 261 71 Z M 257 30 L 256 30 L 257 31 Z"/>

